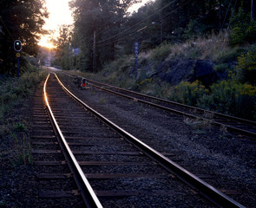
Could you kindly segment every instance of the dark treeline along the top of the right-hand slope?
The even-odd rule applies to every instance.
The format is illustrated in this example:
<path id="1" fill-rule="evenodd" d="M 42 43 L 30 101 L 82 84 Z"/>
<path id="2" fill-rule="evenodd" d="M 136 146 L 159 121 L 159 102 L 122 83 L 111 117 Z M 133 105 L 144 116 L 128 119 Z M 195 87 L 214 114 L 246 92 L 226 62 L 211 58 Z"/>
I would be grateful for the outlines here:
<path id="1" fill-rule="evenodd" d="M 72 31 L 70 27 L 62 29 L 62 37 L 57 43 L 56 64 L 63 57 L 67 60 L 70 56 L 67 51 L 79 48 L 80 55 L 69 64 L 62 60 L 62 67 L 93 71 L 96 64 L 100 70 L 120 55 L 131 54 L 135 42 L 140 42 L 142 51 L 161 43 L 183 42 L 192 37 L 218 33 L 221 29 L 236 26 L 231 23 L 233 17 L 238 16 L 239 8 L 249 18 L 251 12 L 251 0 L 156 0 L 138 12 L 128 14 L 128 8 L 135 2 L 73 0 L 70 7 L 75 26 Z M 253 27 L 255 29 L 255 25 Z"/>

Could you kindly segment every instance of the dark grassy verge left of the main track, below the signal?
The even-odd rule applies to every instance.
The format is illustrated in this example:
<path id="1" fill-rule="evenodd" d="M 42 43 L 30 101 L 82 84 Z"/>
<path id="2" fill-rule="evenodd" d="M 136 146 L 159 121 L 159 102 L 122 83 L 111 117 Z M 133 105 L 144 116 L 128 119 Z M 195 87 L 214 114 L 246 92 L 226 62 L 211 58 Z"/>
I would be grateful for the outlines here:
<path id="1" fill-rule="evenodd" d="M 0 136 L 3 138 L 0 147 L 10 152 L 13 166 L 32 163 L 28 115 L 21 113 L 20 107 L 29 107 L 25 101 L 45 77 L 44 70 L 34 68 L 20 78 L 5 78 L 0 82 Z"/>

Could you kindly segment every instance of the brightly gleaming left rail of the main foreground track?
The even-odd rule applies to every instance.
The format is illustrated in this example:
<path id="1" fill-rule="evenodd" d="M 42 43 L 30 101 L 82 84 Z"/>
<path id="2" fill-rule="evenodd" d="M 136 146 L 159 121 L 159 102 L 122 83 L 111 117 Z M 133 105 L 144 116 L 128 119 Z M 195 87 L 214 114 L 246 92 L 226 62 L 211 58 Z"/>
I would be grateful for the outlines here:
<path id="1" fill-rule="evenodd" d="M 49 111 L 50 119 L 53 121 L 53 125 L 57 130 L 57 134 L 61 138 L 62 147 L 64 147 L 64 150 L 63 150 L 64 154 L 66 156 L 68 156 L 69 168 L 75 174 L 75 179 L 76 179 L 75 182 L 78 185 L 78 187 L 80 188 L 82 198 L 83 198 L 85 204 L 87 205 L 87 207 L 102 208 L 101 202 L 99 201 L 94 190 L 92 189 L 91 185 L 89 184 L 88 179 L 86 179 L 84 173 L 82 172 L 82 168 L 81 168 L 81 166 L 79 166 L 77 160 L 75 159 L 74 154 L 72 153 L 71 149 L 69 148 L 68 142 L 65 140 L 65 138 L 62 134 L 62 131 L 56 122 L 56 119 L 51 110 L 51 107 L 49 106 L 49 101 L 48 101 L 48 97 L 47 97 L 47 93 L 46 93 L 46 85 L 47 85 L 48 80 L 49 80 L 49 75 L 47 76 L 46 81 L 44 82 L 44 85 L 43 85 L 44 101 L 45 101 L 46 107 Z M 79 181 L 77 181 L 77 179 Z"/>

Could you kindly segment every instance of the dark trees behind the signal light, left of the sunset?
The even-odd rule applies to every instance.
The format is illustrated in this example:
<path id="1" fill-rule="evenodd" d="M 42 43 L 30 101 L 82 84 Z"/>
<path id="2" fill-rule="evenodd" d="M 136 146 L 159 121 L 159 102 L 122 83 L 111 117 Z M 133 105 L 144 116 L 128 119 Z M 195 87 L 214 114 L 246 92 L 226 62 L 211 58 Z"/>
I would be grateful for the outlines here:
<path id="1" fill-rule="evenodd" d="M 42 27 L 47 11 L 44 0 L 0 0 L 0 74 L 16 73 L 14 41 L 23 42 L 22 53 L 36 55 L 37 40 L 45 31 Z M 25 60 L 21 57 L 21 64 Z"/>

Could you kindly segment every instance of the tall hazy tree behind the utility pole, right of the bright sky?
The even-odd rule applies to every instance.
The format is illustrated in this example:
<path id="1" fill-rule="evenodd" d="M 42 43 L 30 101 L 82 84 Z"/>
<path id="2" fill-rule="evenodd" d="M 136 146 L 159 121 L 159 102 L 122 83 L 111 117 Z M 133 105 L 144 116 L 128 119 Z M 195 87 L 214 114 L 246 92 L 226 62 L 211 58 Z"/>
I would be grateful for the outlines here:
<path id="1" fill-rule="evenodd" d="M 75 17 L 76 44 L 88 57 L 87 70 L 92 70 L 93 34 L 96 34 L 97 66 L 114 60 L 115 44 L 126 22 L 128 8 L 138 0 L 73 0 L 70 3 Z"/>

